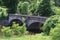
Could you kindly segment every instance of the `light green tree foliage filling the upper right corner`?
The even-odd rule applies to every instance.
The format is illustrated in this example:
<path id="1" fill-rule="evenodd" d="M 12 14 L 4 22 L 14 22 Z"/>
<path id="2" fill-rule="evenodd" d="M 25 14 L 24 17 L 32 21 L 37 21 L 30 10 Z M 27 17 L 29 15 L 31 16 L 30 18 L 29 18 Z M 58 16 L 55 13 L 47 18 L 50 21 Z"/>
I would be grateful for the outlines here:
<path id="1" fill-rule="evenodd" d="M 51 9 L 56 15 L 60 15 L 60 0 L 51 0 Z"/>

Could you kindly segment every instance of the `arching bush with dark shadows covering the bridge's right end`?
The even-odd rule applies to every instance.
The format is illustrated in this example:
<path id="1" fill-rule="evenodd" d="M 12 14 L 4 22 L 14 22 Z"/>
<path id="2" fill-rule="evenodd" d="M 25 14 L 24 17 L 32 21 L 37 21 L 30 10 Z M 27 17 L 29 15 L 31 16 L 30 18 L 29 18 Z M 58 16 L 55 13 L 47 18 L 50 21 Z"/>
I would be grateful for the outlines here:
<path id="1" fill-rule="evenodd" d="M 46 20 L 46 22 L 43 25 L 43 30 L 45 34 L 49 35 L 50 29 L 54 28 L 56 26 L 56 23 L 60 23 L 60 16 L 59 15 L 54 15 L 51 16 Z"/>

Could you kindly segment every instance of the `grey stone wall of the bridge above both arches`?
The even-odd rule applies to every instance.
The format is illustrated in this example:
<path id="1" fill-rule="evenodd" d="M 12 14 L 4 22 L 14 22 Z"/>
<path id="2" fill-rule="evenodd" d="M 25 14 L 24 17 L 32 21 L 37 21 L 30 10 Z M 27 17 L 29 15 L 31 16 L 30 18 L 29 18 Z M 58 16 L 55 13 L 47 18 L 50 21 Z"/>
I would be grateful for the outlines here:
<path id="1" fill-rule="evenodd" d="M 20 15 L 20 14 L 10 14 L 9 18 L 10 18 L 10 20 L 11 19 L 22 20 L 22 18 L 25 18 L 27 22 L 29 22 L 29 20 L 37 20 L 42 23 L 44 23 L 45 20 L 47 19 L 47 17 L 42 17 L 42 16 L 29 16 L 29 15 Z"/>

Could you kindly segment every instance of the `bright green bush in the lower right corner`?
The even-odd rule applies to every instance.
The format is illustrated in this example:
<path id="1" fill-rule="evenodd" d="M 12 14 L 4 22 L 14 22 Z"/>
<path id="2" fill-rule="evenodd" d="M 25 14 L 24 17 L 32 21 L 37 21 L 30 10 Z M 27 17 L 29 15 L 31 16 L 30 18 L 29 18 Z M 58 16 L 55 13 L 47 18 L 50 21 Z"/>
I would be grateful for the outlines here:
<path id="1" fill-rule="evenodd" d="M 52 37 L 52 40 L 60 40 L 60 24 L 54 29 L 51 29 L 50 36 Z"/>

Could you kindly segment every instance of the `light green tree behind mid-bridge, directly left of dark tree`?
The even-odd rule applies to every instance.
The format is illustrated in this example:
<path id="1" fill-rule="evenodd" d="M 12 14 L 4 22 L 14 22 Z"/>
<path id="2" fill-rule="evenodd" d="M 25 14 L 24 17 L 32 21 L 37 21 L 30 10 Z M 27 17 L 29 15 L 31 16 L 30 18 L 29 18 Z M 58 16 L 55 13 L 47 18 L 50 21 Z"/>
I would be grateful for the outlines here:
<path id="1" fill-rule="evenodd" d="M 39 15 L 37 12 L 39 4 L 42 2 L 42 0 L 33 0 L 31 4 L 29 5 L 29 12 L 32 13 L 32 15 Z"/>

